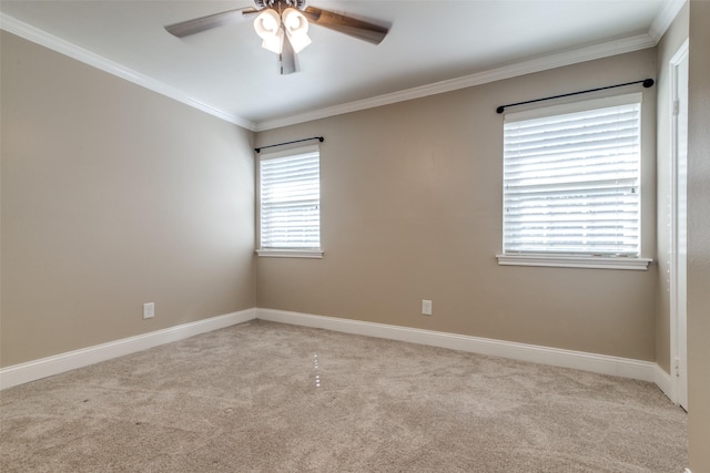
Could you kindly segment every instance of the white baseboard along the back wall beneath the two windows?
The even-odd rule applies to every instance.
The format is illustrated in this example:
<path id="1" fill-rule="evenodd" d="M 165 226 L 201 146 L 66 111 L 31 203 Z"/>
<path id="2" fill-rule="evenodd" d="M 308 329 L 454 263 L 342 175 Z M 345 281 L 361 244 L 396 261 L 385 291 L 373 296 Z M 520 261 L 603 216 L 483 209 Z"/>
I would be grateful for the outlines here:
<path id="1" fill-rule="evenodd" d="M 656 382 L 657 379 L 661 379 L 659 373 L 657 373 L 656 368 L 658 366 L 656 363 L 629 358 L 562 350 L 559 348 L 516 343 L 376 322 L 288 312 L 284 310 L 257 308 L 256 318 L 274 322 L 322 328 L 346 333 L 387 338 L 392 340 L 449 348 L 453 350 L 462 350 L 473 353 L 511 358 L 515 360 L 531 361 L 556 367 L 574 368 L 584 371 L 638 379 L 649 382 Z M 658 370 L 663 371 L 660 368 L 658 368 Z M 661 382 L 666 383 L 666 380 L 661 379 Z"/>

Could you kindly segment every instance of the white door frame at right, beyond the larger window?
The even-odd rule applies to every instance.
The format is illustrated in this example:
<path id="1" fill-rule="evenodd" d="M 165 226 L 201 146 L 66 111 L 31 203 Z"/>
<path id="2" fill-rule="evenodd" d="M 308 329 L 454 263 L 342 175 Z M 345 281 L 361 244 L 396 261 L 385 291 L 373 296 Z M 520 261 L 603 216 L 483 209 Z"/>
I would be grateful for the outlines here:
<path id="1" fill-rule="evenodd" d="M 673 402 L 688 410 L 687 349 L 687 132 L 679 134 L 679 114 L 687 117 L 688 85 L 681 96 L 679 70 L 688 60 L 688 40 L 670 60 L 671 86 L 671 192 L 670 192 L 670 367 Z M 681 116 L 682 119 L 682 116 Z M 687 119 L 686 122 L 687 123 Z M 686 150 L 684 152 L 682 150 Z"/>

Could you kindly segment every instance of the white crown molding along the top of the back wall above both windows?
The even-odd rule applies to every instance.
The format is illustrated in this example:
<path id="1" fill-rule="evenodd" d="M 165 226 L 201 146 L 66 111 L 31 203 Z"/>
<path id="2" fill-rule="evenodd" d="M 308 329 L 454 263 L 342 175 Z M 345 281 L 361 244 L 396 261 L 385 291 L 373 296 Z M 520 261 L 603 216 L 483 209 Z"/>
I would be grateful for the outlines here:
<path id="1" fill-rule="evenodd" d="M 256 123 L 256 132 L 278 128 L 297 123 L 311 122 L 329 116 L 342 115 L 344 113 L 357 112 L 366 109 L 373 109 L 382 105 L 389 105 L 397 102 L 404 102 L 413 99 L 420 99 L 428 95 L 452 92 L 459 89 L 466 89 L 474 85 L 487 84 L 504 79 L 516 78 L 519 75 L 530 74 L 532 72 L 547 71 L 549 69 L 561 68 L 565 65 L 577 64 L 580 62 L 592 61 L 595 59 L 608 58 L 611 55 L 623 54 L 627 52 L 639 51 L 647 48 L 653 48 L 656 41 L 648 34 L 638 34 L 631 38 L 619 39 L 605 42 L 601 44 L 589 45 L 580 49 L 569 50 L 550 54 L 515 64 L 504 65 L 501 68 L 491 69 L 489 71 L 476 74 L 465 75 L 463 78 L 449 79 L 446 81 L 435 82 L 428 85 L 407 89 L 384 95 L 377 95 L 371 99 L 348 102 L 339 105 L 328 106 L 312 112 L 300 113 L 295 115 L 284 116 L 274 120 L 265 120 Z"/>

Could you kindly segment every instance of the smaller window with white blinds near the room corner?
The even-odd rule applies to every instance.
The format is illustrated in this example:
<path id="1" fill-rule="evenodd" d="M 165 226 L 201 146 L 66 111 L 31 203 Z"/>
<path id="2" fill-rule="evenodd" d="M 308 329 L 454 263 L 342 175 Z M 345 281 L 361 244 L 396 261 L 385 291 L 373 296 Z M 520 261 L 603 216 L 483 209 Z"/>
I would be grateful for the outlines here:
<path id="1" fill-rule="evenodd" d="M 261 156 L 260 256 L 321 257 L 317 146 Z"/>

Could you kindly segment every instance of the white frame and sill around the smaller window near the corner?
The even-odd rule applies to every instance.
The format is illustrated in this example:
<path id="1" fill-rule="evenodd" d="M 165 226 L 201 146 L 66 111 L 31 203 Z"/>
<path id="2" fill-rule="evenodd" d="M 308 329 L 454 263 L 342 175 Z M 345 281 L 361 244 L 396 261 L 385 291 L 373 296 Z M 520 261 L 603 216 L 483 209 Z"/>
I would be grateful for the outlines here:
<path id="1" fill-rule="evenodd" d="M 295 157 L 298 155 L 317 153 L 318 157 L 318 246 L 317 247 L 264 247 L 262 240 L 262 162 L 267 160 L 278 160 Z M 258 248 L 256 255 L 276 258 L 322 258 L 324 251 L 322 249 L 321 239 L 321 150 L 318 145 L 292 147 L 285 151 L 260 154 L 256 160 L 256 240 Z"/>

